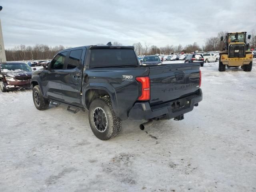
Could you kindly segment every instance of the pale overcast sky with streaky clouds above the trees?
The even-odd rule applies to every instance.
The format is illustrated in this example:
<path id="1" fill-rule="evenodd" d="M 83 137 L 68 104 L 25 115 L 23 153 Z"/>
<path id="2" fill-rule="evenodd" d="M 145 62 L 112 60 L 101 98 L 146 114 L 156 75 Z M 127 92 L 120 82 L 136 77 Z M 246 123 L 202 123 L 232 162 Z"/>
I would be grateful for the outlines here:
<path id="1" fill-rule="evenodd" d="M 109 41 L 182 46 L 256 29 L 255 0 L 1 0 L 5 48 Z"/>

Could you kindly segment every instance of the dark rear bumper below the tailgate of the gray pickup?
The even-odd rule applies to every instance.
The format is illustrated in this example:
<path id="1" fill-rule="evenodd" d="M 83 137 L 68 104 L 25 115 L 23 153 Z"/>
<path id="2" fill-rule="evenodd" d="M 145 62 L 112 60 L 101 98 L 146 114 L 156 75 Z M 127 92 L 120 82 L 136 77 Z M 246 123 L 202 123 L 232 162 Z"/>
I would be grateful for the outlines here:
<path id="1" fill-rule="evenodd" d="M 198 94 L 192 94 L 190 96 L 177 99 L 168 103 L 160 104 L 158 106 L 150 107 L 148 102 L 135 103 L 132 109 L 128 113 L 130 119 L 152 119 L 152 118 L 163 118 L 172 119 L 182 114 L 188 113 L 193 110 L 194 105 L 202 101 L 202 90 L 198 90 Z M 177 109 L 172 109 L 172 104 L 176 101 L 182 101 L 184 106 Z"/>

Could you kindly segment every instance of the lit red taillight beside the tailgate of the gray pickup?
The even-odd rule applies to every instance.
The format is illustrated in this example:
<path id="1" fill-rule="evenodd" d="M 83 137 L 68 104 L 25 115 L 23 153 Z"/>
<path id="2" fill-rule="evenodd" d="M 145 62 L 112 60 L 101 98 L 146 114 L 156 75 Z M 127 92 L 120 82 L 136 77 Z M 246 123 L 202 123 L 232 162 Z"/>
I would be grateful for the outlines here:
<path id="1" fill-rule="evenodd" d="M 141 95 L 138 97 L 140 101 L 150 100 L 150 78 L 136 77 L 136 81 L 141 83 Z"/>

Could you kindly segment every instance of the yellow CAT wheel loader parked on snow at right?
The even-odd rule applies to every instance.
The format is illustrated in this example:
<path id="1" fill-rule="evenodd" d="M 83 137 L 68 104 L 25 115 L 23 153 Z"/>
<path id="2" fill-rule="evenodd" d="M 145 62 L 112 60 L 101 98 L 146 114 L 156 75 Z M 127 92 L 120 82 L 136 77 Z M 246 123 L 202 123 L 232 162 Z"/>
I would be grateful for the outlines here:
<path id="1" fill-rule="evenodd" d="M 222 52 L 220 52 L 219 71 L 225 71 L 226 66 L 241 68 L 244 71 L 252 70 L 253 54 L 250 51 L 250 44 L 246 44 L 246 39 L 250 39 L 251 35 L 246 36 L 246 32 L 227 33 L 224 37 L 224 46 Z"/>

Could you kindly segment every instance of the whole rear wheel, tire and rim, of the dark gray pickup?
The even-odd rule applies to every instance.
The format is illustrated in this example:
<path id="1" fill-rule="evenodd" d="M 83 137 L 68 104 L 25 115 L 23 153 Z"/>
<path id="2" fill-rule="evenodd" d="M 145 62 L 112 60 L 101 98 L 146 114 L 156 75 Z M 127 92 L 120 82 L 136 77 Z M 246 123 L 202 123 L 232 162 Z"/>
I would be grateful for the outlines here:
<path id="1" fill-rule="evenodd" d="M 89 108 L 89 123 L 94 135 L 100 140 L 109 140 L 117 136 L 122 128 L 122 120 L 113 110 L 109 97 L 97 98 Z"/>

